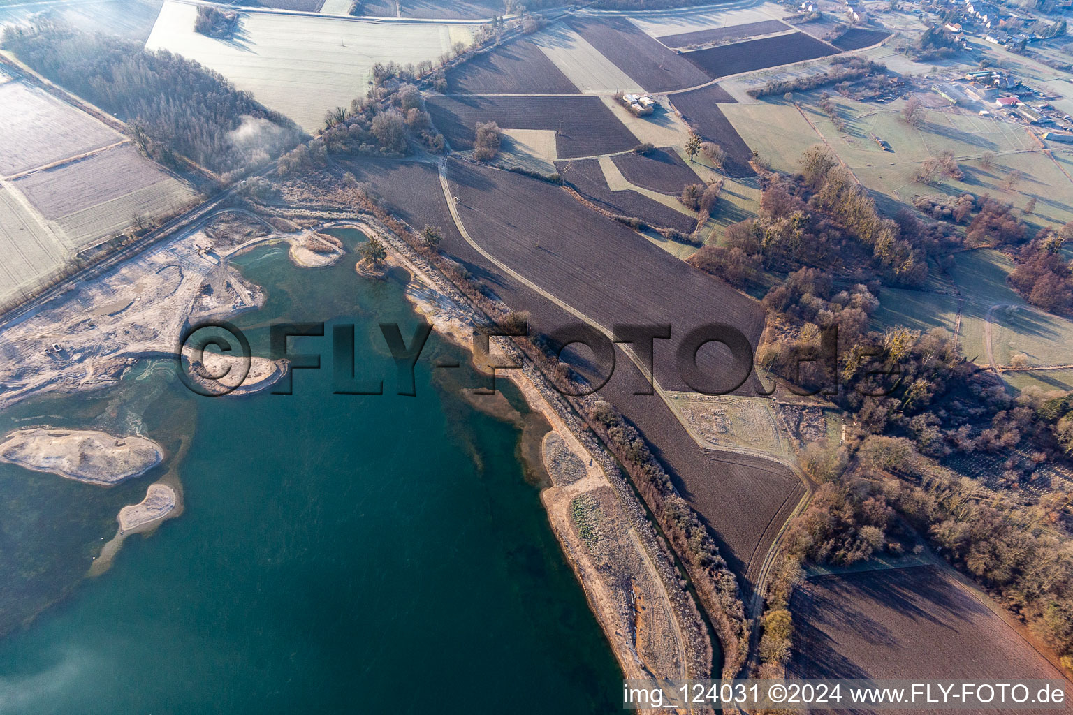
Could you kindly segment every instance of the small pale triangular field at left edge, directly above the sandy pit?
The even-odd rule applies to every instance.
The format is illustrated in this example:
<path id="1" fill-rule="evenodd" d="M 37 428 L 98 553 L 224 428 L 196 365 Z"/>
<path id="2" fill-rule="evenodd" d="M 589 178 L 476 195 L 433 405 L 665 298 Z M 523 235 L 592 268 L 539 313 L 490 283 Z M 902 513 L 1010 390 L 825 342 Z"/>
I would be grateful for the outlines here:
<path id="1" fill-rule="evenodd" d="M 0 183 L 0 301 L 49 274 L 68 256 L 61 237 L 38 221 L 9 187 Z"/>

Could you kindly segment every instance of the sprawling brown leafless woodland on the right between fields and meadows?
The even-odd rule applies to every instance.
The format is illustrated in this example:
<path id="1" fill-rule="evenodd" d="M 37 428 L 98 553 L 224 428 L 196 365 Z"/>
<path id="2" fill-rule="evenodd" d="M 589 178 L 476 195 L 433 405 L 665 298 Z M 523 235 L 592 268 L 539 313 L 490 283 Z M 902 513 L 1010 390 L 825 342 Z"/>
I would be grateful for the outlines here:
<path id="1" fill-rule="evenodd" d="M 1014 288 L 1048 310 L 1068 309 L 1073 282 L 1061 249 L 1073 225 L 1026 242 L 1027 227 L 1009 204 L 971 195 L 949 206 L 921 203 L 968 224 L 964 235 L 908 209 L 886 219 L 822 147 L 804 153 L 796 175 L 765 172 L 761 181 L 758 218 L 729 226 L 720 244 L 692 262 L 738 287 L 769 286 L 758 364 L 794 389 L 824 391 L 852 424 L 841 448 L 812 444 L 799 456 L 820 487 L 788 527 L 768 585 L 761 672 L 774 676 L 788 661 L 789 599 L 803 563 L 897 555 L 917 547 L 916 534 L 1073 667 L 1073 552 L 1063 512 L 1073 494 L 1023 506 L 950 466 L 959 456 L 989 459 L 1000 465 L 991 475 L 999 489 L 1049 486 L 1045 467 L 1069 464 L 1073 452 L 1073 396 L 1010 394 L 998 375 L 961 357 L 946 330 L 870 328 L 884 285 L 920 285 L 928 258 L 941 265 L 979 245 L 1018 249 Z"/>

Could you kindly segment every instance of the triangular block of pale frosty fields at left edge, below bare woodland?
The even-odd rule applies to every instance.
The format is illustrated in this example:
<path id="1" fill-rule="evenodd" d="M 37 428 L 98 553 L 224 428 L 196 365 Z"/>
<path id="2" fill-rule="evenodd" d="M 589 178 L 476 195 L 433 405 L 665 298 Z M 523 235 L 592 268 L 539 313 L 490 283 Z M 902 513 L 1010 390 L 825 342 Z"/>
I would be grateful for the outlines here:
<path id="1" fill-rule="evenodd" d="M 0 84 L 0 301 L 135 213 L 157 218 L 195 197 L 124 140 L 40 87 Z"/>

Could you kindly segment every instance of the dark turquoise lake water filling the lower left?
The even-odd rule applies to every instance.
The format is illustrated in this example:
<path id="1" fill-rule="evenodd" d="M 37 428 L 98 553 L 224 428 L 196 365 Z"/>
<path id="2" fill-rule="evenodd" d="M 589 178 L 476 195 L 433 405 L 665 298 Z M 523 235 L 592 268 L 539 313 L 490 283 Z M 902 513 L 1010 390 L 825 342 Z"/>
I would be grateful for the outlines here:
<path id="1" fill-rule="evenodd" d="M 409 341 L 418 324 L 398 281 L 359 278 L 351 257 L 298 269 L 279 247 L 234 263 L 269 295 L 233 321 L 255 353 L 270 321 L 328 322 L 291 341 L 323 367 L 297 371 L 294 394 L 199 398 L 162 362 L 0 415 L 4 432 L 139 427 L 170 453 L 113 489 L 0 464 L 0 713 L 617 711 L 621 674 L 520 429 L 460 397 L 483 384 L 466 356 L 433 334 L 417 396 L 399 397 L 378 326 Z M 382 397 L 332 394 L 332 325 L 347 322 Z M 168 468 L 185 512 L 80 578 Z"/>

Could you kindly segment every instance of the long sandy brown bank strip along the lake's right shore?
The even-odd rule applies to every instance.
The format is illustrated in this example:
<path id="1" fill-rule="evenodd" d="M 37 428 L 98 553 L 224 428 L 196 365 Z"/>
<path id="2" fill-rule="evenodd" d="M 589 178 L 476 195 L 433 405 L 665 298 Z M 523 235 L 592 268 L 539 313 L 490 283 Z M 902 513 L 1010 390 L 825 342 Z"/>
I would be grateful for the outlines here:
<path id="1" fill-rule="evenodd" d="M 465 296 L 440 277 L 435 267 L 418 265 L 417 262 L 424 262 L 408 255 L 412 251 L 409 245 L 371 221 L 334 223 L 361 227 L 378 236 L 387 249 L 387 263 L 410 274 L 405 295 L 414 311 L 441 336 L 465 348 L 479 371 L 488 372 L 473 348 L 481 313 Z M 495 344 L 489 351 L 494 355 L 501 352 L 502 348 Z M 543 377 L 531 363 L 525 361 L 523 368 L 498 369 L 496 374 L 510 379 L 523 393 L 529 408 L 541 414 L 550 426 L 540 441 L 544 471 L 552 482 L 541 490 L 541 503 L 623 676 L 708 677 L 711 643 L 706 624 L 681 585 L 668 547 L 660 541 L 643 509 L 633 500 L 630 487 L 612 458 L 598 443 L 586 445 L 577 436 L 576 432 L 584 434 L 584 430 L 576 417 L 569 413 L 564 417 L 561 411 L 569 411 L 569 407 L 559 405 L 557 408 L 553 404 L 555 398 L 549 394 L 549 388 L 540 387 Z M 576 463 L 584 465 L 584 478 L 571 480 L 561 474 L 548 457 L 547 445 L 552 438 L 560 441 Z M 593 511 L 607 527 L 607 533 L 588 540 L 582 535 L 576 516 L 579 500 L 596 505 Z M 624 556 L 626 568 L 632 569 L 627 578 L 608 571 L 609 551 Z M 624 589 L 624 583 L 630 583 L 631 587 Z"/>

